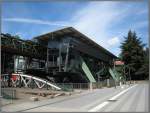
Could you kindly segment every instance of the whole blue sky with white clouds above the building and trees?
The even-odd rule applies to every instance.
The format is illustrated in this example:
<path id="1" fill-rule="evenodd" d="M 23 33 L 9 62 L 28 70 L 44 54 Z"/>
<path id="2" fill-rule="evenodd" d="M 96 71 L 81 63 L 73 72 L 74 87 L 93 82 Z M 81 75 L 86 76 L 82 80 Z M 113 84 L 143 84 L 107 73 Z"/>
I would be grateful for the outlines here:
<path id="1" fill-rule="evenodd" d="M 2 33 L 22 39 L 74 27 L 116 56 L 129 30 L 148 44 L 148 3 L 144 0 L 11 1 L 2 3 L 1 12 Z"/>

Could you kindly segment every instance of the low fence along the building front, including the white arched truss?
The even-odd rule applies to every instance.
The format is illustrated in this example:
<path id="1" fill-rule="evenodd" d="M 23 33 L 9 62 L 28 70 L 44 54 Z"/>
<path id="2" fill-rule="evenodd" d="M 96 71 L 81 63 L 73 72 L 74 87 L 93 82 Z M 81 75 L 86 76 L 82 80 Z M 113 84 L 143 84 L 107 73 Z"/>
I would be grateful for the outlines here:
<path id="1" fill-rule="evenodd" d="M 7 75 L 8 76 L 8 75 Z M 101 80 L 99 82 L 90 83 L 54 83 L 45 79 L 41 79 L 31 75 L 25 74 L 12 74 L 11 79 L 6 79 L 6 75 L 2 76 L 1 86 L 5 87 L 25 87 L 25 88 L 39 88 L 39 89 L 52 89 L 52 90 L 64 90 L 72 91 L 74 89 L 91 89 L 102 87 L 113 87 L 118 85 L 112 78 Z"/>

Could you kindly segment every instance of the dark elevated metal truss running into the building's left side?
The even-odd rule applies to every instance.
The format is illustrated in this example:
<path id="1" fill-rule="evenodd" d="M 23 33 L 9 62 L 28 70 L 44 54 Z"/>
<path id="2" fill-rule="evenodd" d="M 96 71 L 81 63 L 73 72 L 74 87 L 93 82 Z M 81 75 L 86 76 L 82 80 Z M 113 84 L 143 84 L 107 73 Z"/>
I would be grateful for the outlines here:
<path id="1" fill-rule="evenodd" d="M 25 41 L 11 35 L 1 34 L 1 47 L 4 52 L 11 52 L 33 58 L 46 58 L 47 47 L 33 41 Z"/>

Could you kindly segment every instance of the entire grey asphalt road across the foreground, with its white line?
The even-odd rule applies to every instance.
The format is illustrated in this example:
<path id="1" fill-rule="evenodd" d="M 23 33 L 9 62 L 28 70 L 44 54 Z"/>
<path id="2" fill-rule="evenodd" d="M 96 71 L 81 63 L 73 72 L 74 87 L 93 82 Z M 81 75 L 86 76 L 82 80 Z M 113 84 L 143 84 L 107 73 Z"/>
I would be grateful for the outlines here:
<path id="1" fill-rule="evenodd" d="M 80 95 L 27 102 L 3 107 L 2 111 L 23 112 L 147 112 L 149 84 L 139 83 L 124 88 L 103 88 Z"/>

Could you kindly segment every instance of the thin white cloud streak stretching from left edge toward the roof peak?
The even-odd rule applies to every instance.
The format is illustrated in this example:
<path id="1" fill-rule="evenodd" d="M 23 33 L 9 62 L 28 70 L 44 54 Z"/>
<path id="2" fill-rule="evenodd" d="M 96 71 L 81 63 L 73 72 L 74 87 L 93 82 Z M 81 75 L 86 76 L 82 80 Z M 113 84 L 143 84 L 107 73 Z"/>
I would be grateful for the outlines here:
<path id="1" fill-rule="evenodd" d="M 31 24 L 42 24 L 42 25 L 54 25 L 54 26 L 69 26 L 69 23 L 63 21 L 45 21 L 31 18 L 4 18 L 2 21 L 6 22 L 20 22 L 20 23 L 31 23 Z"/>

